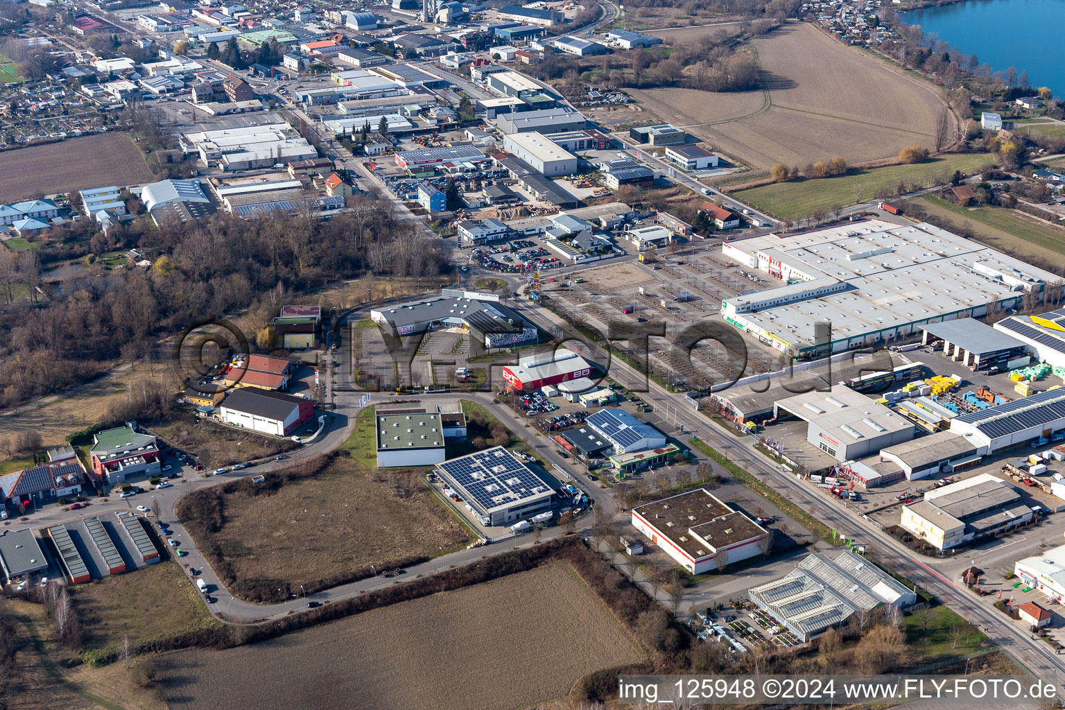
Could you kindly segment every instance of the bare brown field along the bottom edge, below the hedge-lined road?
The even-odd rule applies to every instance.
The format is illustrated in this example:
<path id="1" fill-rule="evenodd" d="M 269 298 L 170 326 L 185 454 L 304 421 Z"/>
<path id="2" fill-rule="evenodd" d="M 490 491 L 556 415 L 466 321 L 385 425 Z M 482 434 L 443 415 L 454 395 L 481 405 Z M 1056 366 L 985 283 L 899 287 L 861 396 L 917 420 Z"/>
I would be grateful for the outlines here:
<path id="1" fill-rule="evenodd" d="M 170 654 L 158 665 L 164 697 L 189 710 L 512 710 L 641 658 L 573 569 L 554 563 L 252 646 Z"/>

